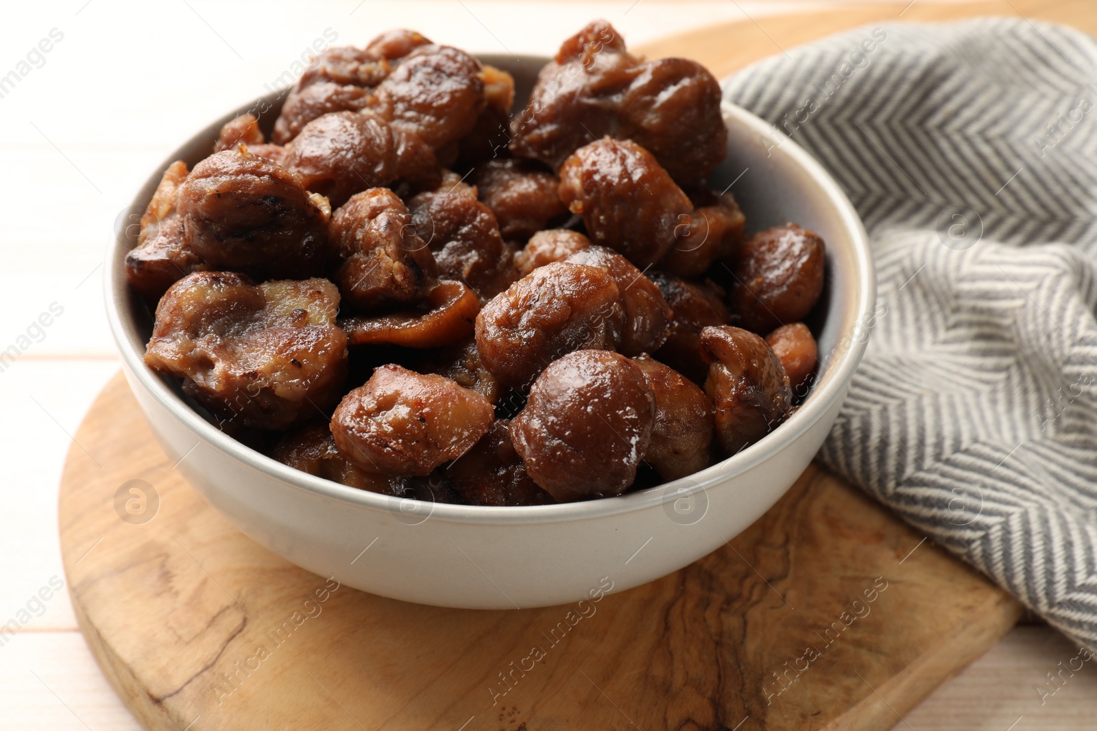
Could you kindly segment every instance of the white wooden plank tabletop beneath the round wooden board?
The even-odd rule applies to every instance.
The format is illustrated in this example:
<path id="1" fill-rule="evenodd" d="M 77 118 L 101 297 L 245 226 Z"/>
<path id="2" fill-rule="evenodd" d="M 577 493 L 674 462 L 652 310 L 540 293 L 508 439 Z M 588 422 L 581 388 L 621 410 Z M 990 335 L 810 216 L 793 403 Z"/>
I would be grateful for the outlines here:
<path id="1" fill-rule="evenodd" d="M 0 356 L 5 467 L 0 626 L 19 619 L 25 627 L 0 639 L 0 730 L 139 728 L 88 653 L 67 593 L 35 597 L 64 580 L 56 500 L 69 435 L 118 368 L 101 304 L 114 219 L 177 144 L 261 93 L 325 31 L 337 33 L 337 43 L 363 43 L 387 27 L 410 26 L 473 52 L 547 55 L 598 16 L 638 44 L 745 13 L 823 4 L 341 0 L 308 10 L 287 0 L 5 4 L 0 353 L 13 357 Z M 52 307 L 61 312 L 42 327 L 39 316 Z M 896 728 L 1093 729 L 1097 660 L 1043 703 L 1037 689 L 1054 689 L 1047 674 L 1075 654 L 1047 627 L 1019 627 Z"/>

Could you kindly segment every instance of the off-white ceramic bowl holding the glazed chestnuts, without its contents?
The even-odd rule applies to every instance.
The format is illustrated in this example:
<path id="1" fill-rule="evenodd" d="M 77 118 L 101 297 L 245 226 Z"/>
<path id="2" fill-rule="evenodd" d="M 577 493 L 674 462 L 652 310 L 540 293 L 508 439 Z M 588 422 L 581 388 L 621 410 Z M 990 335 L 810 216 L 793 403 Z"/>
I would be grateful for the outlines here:
<path id="1" fill-rule="evenodd" d="M 547 59 L 484 60 L 514 73 L 523 100 Z M 269 125 L 280 100 L 265 101 L 273 106 L 262 117 Z M 256 104 L 181 147 L 148 179 L 134 210 L 144 209 L 171 161 L 206 157 L 220 125 L 249 108 Z M 186 480 L 270 550 L 343 584 L 408 602 L 502 609 L 563 604 L 599 585 L 622 591 L 646 583 L 719 548 L 773 505 L 814 457 L 864 352 L 875 299 L 863 227 L 834 180 L 754 115 L 727 105 L 724 118 L 728 153 L 713 187 L 734 181 L 749 230 L 791 220 L 827 243 L 816 328 L 821 377 L 801 409 L 757 444 L 690 478 L 566 505 L 432 504 L 306 475 L 220 433 L 177 385 L 145 365 L 151 323 L 126 284 L 123 259 L 136 240 L 129 226 L 108 259 L 106 308 L 126 378 L 169 461 L 182 458 Z"/>

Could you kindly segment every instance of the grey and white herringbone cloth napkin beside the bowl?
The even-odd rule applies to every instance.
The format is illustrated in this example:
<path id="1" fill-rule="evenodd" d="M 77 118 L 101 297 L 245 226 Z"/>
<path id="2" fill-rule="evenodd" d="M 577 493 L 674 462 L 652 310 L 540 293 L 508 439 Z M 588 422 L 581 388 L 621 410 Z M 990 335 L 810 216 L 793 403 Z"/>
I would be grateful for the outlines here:
<path id="1" fill-rule="evenodd" d="M 1097 648 L 1097 43 L 885 24 L 724 94 L 811 151 L 872 242 L 874 331 L 823 462 Z"/>

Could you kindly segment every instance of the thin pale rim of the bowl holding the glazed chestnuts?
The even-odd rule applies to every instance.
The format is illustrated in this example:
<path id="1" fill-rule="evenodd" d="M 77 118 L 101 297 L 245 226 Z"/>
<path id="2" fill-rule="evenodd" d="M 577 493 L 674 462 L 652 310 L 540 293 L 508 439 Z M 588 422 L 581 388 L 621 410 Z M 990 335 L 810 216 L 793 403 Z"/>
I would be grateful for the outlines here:
<path id="1" fill-rule="evenodd" d="M 536 57 L 524 58 L 539 60 Z M 279 98 L 284 93 L 285 91 L 267 94 L 256 100 L 250 107 L 242 108 L 255 110 L 262 103 L 276 103 Z M 739 106 L 722 102 L 721 112 L 725 124 L 734 121 L 736 124 L 745 125 L 751 132 L 757 133 L 761 139 L 773 139 L 774 136 L 780 135 L 780 141 L 778 145 L 772 146 L 771 152 L 778 156 L 785 156 L 794 165 L 801 168 L 815 181 L 822 189 L 829 205 L 834 207 L 849 237 L 853 262 L 852 271 L 849 272 L 849 275 L 855 286 L 846 293 L 846 296 L 852 298 L 856 306 L 851 312 L 846 315 L 847 322 L 842 324 L 837 333 L 839 345 L 835 347 L 826 372 L 812 388 L 811 395 L 795 413 L 767 436 L 742 452 L 685 478 L 613 498 L 551 505 L 459 505 L 430 503 L 427 501 L 427 504 L 431 505 L 427 514 L 429 518 L 443 522 L 480 523 L 487 525 L 573 522 L 638 512 L 667 503 L 670 500 L 689 498 L 699 492 L 706 492 L 717 483 L 748 472 L 771 459 L 806 433 L 826 414 L 836 401 L 844 398 L 853 373 L 864 354 L 864 349 L 868 345 L 868 335 L 870 334 L 864 332 L 863 336 L 857 336 L 857 329 L 859 325 L 862 328 L 866 327 L 863 323 L 870 321 L 869 318 L 875 305 L 875 270 L 872 264 L 872 254 L 864 226 L 837 182 L 800 145 L 776 130 L 772 125 Z M 151 191 L 155 190 L 163 170 L 176 160 L 185 157 L 188 148 L 191 148 L 200 138 L 204 137 L 211 140 L 216 138 L 220 126 L 240 113 L 240 111 L 237 111 L 225 115 L 223 118 L 190 137 L 184 145 L 177 149 L 149 176 L 137 192 L 133 204 L 127 210 L 143 213 L 148 198 L 151 196 Z M 374 511 L 421 515 L 418 511 L 421 510 L 425 501 L 410 498 L 396 498 L 351 488 L 279 462 L 219 431 L 182 400 L 159 374 L 145 364 L 143 339 L 139 336 L 134 312 L 129 308 L 131 293 L 122 263 L 125 252 L 128 251 L 124 239 L 125 237 L 122 232 L 116 231 L 114 240 L 108 249 L 106 256 L 108 266 L 104 278 L 104 298 L 106 300 L 106 313 L 111 332 L 122 356 L 123 364 L 126 366 L 126 370 L 156 400 L 160 408 L 170 413 L 182 426 L 191 432 L 197 439 L 195 447 L 205 443 L 207 446 L 222 452 L 237 462 L 268 478 L 313 493 L 319 498 Z M 132 346 L 133 343 L 142 343 L 140 352 L 138 352 L 137 347 Z M 848 346 L 842 349 L 841 343 L 848 343 Z M 422 519 L 426 521 L 427 518 Z"/>

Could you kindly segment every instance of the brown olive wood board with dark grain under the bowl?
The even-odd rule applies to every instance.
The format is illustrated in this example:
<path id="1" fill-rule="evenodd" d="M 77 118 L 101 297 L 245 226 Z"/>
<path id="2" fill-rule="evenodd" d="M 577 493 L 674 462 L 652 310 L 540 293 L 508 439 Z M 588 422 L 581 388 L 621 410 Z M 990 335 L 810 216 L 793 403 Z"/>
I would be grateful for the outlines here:
<path id="1" fill-rule="evenodd" d="M 638 50 L 724 76 L 900 12 L 1097 28 L 1081 0 L 914 2 L 747 19 Z M 59 502 L 81 630 L 155 730 L 882 730 L 1021 613 L 816 466 L 725 547 L 583 606 L 477 612 L 373 596 L 298 569 L 210 507 L 121 375 L 76 435 Z"/>

